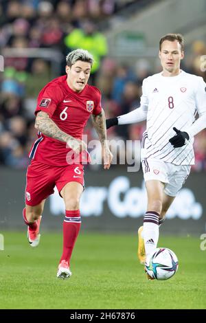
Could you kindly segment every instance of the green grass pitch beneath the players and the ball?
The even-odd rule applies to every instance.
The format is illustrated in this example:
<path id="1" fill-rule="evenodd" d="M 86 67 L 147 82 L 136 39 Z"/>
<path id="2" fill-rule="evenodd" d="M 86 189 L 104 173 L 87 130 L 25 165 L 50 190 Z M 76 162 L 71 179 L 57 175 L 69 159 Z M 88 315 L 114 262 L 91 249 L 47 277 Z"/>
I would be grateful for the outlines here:
<path id="1" fill-rule="evenodd" d="M 159 247 L 176 253 L 179 270 L 170 280 L 149 281 L 135 234 L 80 233 L 69 280 L 56 278 L 62 234 L 43 232 L 37 248 L 25 232 L 3 236 L 1 309 L 206 309 L 206 251 L 198 237 L 161 235 Z"/>

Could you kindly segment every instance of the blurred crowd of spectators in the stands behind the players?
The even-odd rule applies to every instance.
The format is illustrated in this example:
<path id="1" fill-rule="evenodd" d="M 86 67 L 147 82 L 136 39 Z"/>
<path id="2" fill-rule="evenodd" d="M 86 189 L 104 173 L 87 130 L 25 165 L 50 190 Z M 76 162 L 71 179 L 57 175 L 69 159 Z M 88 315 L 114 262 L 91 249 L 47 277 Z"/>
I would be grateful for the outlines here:
<path id="1" fill-rule="evenodd" d="M 131 66 L 108 56 L 104 31 L 109 18 L 135 1 L 129 0 L 22 0 L 0 1 L 0 48 L 54 49 L 62 53 L 60 74 L 65 74 L 65 56 L 73 49 L 84 48 L 95 57 L 91 84 L 102 91 L 102 107 L 106 118 L 128 113 L 139 106 L 141 83 L 147 76 L 161 70 L 146 58 Z M 138 2 L 138 1 L 136 1 Z M 187 54 L 189 53 L 189 54 Z M 203 76 L 201 57 L 205 43 L 194 41 L 186 47 L 183 69 Z M 27 154 L 36 140 L 34 110 L 38 92 L 52 78 L 51 60 L 18 55 L 7 56 L 1 72 L 0 96 L 0 164 L 26 168 Z M 108 139 L 141 140 L 145 123 L 117 126 L 108 130 Z M 88 140 L 96 137 L 91 123 L 87 125 Z M 206 170 L 206 131 L 196 135 L 196 165 L 193 170 Z"/>

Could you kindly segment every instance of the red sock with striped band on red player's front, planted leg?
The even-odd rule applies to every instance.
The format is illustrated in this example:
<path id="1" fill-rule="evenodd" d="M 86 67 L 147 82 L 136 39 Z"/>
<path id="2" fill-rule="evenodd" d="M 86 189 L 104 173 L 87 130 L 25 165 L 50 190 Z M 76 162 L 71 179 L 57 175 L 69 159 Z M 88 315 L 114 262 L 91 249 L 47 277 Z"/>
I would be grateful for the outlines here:
<path id="1" fill-rule="evenodd" d="M 80 210 L 67 211 L 63 222 L 63 252 L 60 258 L 70 263 L 71 253 L 80 231 L 81 217 Z"/>

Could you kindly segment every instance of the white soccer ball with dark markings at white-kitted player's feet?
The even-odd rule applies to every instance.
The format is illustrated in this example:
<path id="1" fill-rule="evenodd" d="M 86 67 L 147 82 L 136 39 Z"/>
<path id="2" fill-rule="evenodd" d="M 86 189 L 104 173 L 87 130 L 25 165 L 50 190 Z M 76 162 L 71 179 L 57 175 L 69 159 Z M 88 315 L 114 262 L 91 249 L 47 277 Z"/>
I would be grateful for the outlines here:
<path id="1" fill-rule="evenodd" d="M 166 280 L 176 273 L 178 259 L 172 250 L 168 248 L 157 248 L 146 261 L 145 269 L 151 278 Z"/>

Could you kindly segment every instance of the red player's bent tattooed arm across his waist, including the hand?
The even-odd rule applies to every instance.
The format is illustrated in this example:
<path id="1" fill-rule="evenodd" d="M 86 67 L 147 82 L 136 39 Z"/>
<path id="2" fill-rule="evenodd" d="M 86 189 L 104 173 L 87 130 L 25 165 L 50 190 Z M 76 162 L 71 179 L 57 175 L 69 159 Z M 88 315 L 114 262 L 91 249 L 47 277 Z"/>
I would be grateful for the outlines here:
<path id="1" fill-rule="evenodd" d="M 85 142 L 60 130 L 56 123 L 49 118 L 49 115 L 46 112 L 39 111 L 37 113 L 35 128 L 38 129 L 38 131 L 41 131 L 44 135 L 47 135 L 47 137 L 60 140 L 60 142 L 67 142 L 68 146 L 76 153 L 87 149 L 87 144 L 85 144 Z"/>

